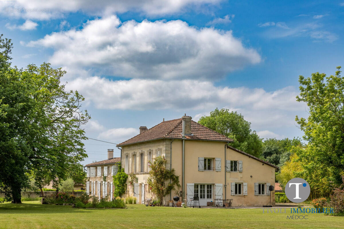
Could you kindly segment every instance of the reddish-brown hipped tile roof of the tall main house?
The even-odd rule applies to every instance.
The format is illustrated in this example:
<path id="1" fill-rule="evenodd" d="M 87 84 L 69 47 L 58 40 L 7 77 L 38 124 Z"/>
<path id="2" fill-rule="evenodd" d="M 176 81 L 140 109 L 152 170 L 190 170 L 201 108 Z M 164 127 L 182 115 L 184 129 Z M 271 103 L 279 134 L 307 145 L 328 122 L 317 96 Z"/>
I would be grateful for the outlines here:
<path id="1" fill-rule="evenodd" d="M 164 121 L 143 133 L 118 144 L 117 146 L 161 138 L 182 139 L 182 125 L 182 118 Z M 191 134 L 192 135 L 186 135 L 185 138 L 191 140 L 233 141 L 232 139 L 194 121 L 191 121 Z"/>

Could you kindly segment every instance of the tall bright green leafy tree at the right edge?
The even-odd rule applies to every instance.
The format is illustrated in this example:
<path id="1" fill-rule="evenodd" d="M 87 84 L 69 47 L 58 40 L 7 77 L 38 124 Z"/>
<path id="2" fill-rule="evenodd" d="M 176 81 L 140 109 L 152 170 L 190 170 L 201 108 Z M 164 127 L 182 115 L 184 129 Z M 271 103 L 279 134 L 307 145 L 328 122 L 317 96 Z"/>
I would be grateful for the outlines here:
<path id="1" fill-rule="evenodd" d="M 335 186 L 341 185 L 344 175 L 344 78 L 340 69 L 329 77 L 319 72 L 311 78 L 299 77 L 297 101 L 307 104 L 309 117 L 296 116 L 308 141 L 307 150 L 298 155 L 303 168 L 317 175 L 315 182 L 326 180 Z M 320 183 L 318 188 L 321 193 L 329 191 Z"/>

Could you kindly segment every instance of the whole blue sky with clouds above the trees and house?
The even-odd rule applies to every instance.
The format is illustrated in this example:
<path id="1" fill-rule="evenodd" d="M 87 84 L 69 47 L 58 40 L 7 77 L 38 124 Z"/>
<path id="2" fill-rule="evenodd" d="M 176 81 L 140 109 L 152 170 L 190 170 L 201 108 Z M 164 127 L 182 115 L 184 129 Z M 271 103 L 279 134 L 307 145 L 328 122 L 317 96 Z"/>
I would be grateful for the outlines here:
<path id="1" fill-rule="evenodd" d="M 51 63 L 85 97 L 89 138 L 123 142 L 165 120 L 216 107 L 261 138 L 302 137 L 300 75 L 343 64 L 344 1 L 1 1 L 12 65 Z M 83 164 L 116 145 L 89 139 Z"/>

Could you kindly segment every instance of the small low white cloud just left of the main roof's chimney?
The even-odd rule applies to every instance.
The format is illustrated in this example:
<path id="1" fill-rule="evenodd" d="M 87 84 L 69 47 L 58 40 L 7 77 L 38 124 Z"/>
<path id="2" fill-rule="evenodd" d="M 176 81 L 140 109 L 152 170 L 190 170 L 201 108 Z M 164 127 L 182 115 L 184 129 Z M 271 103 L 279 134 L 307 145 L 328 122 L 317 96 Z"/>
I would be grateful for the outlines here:
<path id="1" fill-rule="evenodd" d="M 97 138 L 115 141 L 115 143 L 119 144 L 138 134 L 138 128 L 113 128 L 100 133 Z"/>

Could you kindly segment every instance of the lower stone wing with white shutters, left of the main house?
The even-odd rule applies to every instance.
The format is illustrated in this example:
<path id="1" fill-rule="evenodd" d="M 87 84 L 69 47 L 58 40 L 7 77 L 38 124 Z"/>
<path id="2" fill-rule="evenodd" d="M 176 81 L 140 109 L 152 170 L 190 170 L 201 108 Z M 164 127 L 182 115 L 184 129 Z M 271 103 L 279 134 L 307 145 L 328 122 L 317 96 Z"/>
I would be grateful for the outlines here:
<path id="1" fill-rule="evenodd" d="M 114 158 L 114 150 L 108 149 L 108 159 L 85 165 L 87 169 L 86 193 L 92 196 L 113 198 L 113 179 L 118 171 L 120 157 Z"/>

